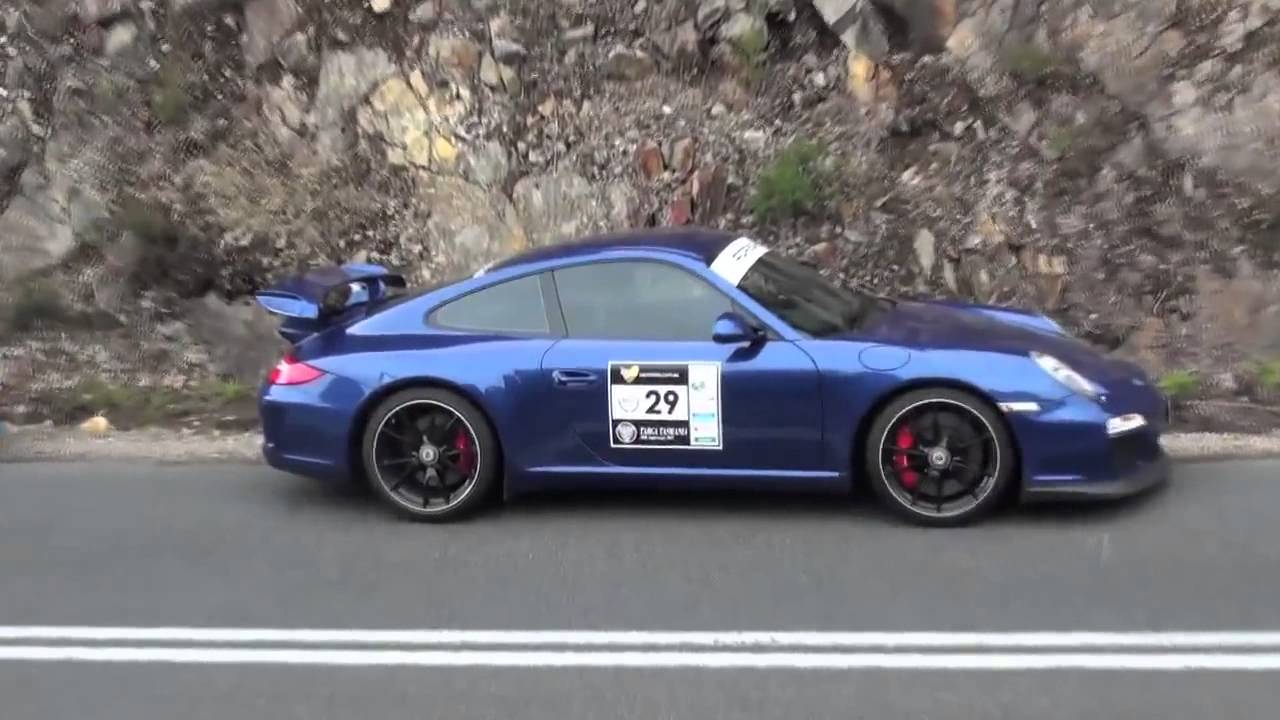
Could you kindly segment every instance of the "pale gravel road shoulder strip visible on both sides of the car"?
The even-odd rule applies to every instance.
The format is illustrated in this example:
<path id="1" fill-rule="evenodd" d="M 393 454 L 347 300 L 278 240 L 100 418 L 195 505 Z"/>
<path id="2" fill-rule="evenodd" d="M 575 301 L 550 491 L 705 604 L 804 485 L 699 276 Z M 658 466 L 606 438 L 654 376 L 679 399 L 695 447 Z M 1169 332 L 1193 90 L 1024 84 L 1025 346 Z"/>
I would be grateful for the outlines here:
<path id="1" fill-rule="evenodd" d="M 260 462 L 260 433 L 145 429 L 92 436 L 69 428 L 9 428 L 0 462 L 31 460 L 141 460 L 147 462 Z M 1171 433 L 1162 438 L 1178 460 L 1280 457 L 1280 433 Z"/>

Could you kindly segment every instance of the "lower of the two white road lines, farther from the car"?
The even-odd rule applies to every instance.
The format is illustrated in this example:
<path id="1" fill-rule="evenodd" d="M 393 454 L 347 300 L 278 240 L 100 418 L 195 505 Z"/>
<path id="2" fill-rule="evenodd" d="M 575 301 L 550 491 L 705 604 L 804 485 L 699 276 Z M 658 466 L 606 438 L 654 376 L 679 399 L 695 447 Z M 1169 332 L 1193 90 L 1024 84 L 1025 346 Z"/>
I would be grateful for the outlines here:
<path id="1" fill-rule="evenodd" d="M 228 647 L 0 646 L 0 662 L 339 665 L 408 667 L 698 667 L 776 670 L 1280 671 L 1280 653 L 884 653 L 404 651 Z"/>

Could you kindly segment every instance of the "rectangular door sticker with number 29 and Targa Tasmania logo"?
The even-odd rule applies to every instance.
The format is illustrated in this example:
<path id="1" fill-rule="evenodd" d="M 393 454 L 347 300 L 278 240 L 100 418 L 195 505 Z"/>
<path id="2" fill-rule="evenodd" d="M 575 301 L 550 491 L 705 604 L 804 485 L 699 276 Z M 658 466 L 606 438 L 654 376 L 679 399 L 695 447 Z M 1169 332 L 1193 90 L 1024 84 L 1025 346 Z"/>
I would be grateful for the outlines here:
<path id="1" fill-rule="evenodd" d="M 719 363 L 609 363 L 611 447 L 721 448 Z"/>

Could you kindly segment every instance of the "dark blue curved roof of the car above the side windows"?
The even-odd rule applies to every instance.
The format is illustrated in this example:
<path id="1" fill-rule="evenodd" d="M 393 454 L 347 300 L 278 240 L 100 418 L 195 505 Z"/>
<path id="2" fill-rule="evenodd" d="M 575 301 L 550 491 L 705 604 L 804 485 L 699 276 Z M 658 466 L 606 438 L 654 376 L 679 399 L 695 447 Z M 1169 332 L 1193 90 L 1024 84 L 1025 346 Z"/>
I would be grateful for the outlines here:
<path id="1" fill-rule="evenodd" d="M 721 250 L 737 237 L 740 233 L 700 227 L 628 229 L 526 250 L 494 263 L 489 270 L 548 260 L 572 260 L 617 250 L 682 255 L 710 265 Z"/>

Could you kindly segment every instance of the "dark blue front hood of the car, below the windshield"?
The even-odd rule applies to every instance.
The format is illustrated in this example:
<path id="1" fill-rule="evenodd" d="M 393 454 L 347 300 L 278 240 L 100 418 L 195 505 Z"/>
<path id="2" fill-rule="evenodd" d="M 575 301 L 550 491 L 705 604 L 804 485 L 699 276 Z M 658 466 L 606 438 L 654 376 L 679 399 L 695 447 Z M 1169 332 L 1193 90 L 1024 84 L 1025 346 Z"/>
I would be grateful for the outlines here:
<path id="1" fill-rule="evenodd" d="M 1139 366 L 1103 355 L 1066 334 L 1044 315 L 995 305 L 899 300 L 868 319 L 858 337 L 864 342 L 923 350 L 1011 355 L 1038 351 L 1057 357 L 1103 387 L 1134 379 L 1147 382 Z"/>

